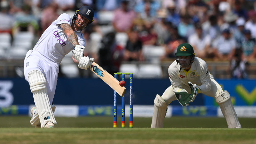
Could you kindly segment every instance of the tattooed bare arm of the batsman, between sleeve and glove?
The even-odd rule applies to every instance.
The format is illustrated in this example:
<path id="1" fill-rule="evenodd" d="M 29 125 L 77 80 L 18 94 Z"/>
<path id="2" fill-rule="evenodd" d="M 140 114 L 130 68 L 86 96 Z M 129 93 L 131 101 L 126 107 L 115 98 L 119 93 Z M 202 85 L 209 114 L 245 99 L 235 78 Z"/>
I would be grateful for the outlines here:
<path id="1" fill-rule="evenodd" d="M 62 28 L 63 32 L 67 36 L 67 39 L 73 46 L 79 45 L 77 35 L 69 24 L 62 23 L 60 24 L 60 27 Z"/>

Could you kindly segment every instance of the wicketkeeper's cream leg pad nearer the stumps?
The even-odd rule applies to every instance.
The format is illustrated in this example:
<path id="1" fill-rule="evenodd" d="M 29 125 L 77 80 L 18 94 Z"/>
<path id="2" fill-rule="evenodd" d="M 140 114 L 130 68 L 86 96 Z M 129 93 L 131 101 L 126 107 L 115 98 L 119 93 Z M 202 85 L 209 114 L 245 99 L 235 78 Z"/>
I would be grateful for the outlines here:
<path id="1" fill-rule="evenodd" d="M 152 117 L 151 128 L 163 127 L 163 120 L 167 112 L 166 102 L 157 94 L 154 100 L 154 112 Z"/>

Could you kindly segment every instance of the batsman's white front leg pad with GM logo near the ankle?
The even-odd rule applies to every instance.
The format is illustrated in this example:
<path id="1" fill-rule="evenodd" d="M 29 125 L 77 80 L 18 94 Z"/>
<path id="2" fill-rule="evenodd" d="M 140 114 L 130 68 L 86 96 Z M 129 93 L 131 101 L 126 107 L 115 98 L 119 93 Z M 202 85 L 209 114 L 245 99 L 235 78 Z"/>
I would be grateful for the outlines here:
<path id="1" fill-rule="evenodd" d="M 44 128 L 45 124 L 49 121 L 57 124 L 47 95 L 44 75 L 38 70 L 33 70 L 27 77 L 29 79 L 30 90 L 33 93 L 35 106 L 37 107 L 41 128 Z"/>

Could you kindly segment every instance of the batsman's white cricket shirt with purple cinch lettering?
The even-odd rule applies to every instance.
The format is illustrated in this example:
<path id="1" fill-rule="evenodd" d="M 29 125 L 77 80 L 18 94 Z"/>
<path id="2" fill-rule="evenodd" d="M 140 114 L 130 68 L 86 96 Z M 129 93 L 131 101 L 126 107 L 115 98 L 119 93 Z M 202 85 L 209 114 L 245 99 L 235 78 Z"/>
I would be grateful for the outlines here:
<path id="1" fill-rule="evenodd" d="M 61 14 L 57 20 L 43 32 L 42 36 L 35 45 L 35 51 L 48 58 L 50 61 L 61 63 L 66 54 L 74 49 L 74 46 L 67 40 L 67 36 L 59 26 L 62 23 L 72 24 L 68 14 Z M 85 46 L 85 39 L 81 31 L 75 31 L 79 45 Z"/>

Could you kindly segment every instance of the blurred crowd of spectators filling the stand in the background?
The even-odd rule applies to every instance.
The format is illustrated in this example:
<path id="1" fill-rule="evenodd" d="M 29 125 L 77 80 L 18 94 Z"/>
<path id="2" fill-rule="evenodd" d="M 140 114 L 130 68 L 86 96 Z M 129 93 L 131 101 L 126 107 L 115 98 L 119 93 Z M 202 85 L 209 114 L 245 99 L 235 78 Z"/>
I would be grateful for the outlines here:
<path id="1" fill-rule="evenodd" d="M 1 0 L 0 33 L 12 41 L 23 31 L 39 38 L 60 14 L 73 17 L 83 5 L 95 10 L 83 30 L 85 53 L 110 73 L 122 62 L 148 61 L 147 46 L 161 47 L 159 60 L 166 61 L 179 44 L 190 43 L 197 57 L 230 61 L 237 78 L 246 78 L 256 58 L 254 0 Z"/>

